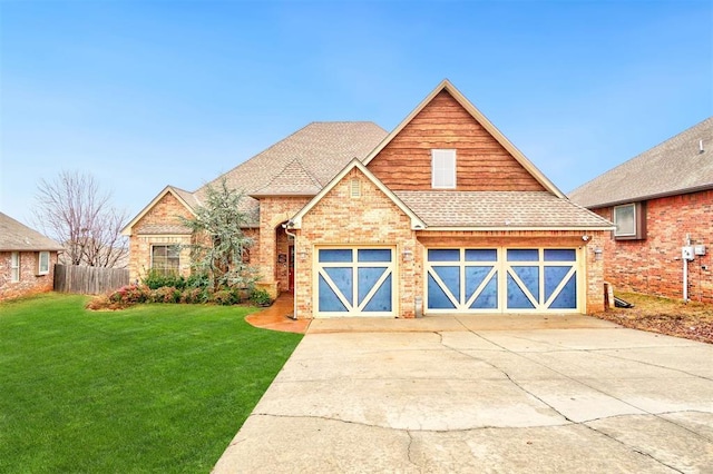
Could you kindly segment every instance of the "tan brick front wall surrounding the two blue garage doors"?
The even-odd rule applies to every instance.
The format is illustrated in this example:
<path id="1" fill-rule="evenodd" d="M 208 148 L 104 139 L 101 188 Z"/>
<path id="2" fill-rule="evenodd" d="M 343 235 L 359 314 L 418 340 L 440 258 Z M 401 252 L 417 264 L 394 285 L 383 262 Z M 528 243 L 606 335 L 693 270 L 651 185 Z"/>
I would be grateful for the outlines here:
<path id="1" fill-rule="evenodd" d="M 362 196 L 350 197 L 350 181 L 362 181 Z M 413 231 L 410 219 L 358 169 L 348 174 L 302 219 L 296 247 L 297 317 L 313 317 L 313 250 L 321 245 L 395 245 L 399 317 L 413 317 L 416 297 L 423 298 L 423 258 L 427 247 L 567 247 L 583 256 L 585 313 L 604 309 L 603 260 L 594 249 L 607 233 L 588 231 Z M 408 257 L 407 257 L 408 255 Z"/>

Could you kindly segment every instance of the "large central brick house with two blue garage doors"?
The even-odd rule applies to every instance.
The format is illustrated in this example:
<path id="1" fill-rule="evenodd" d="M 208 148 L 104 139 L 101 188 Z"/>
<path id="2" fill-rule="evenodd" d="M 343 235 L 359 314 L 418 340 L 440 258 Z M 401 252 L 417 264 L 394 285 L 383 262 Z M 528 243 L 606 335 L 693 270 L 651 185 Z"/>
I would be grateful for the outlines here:
<path id="1" fill-rule="evenodd" d="M 390 134 L 318 122 L 224 178 L 250 198 L 251 263 L 300 318 L 588 313 L 613 228 L 570 203 L 448 80 Z M 124 229 L 131 278 L 186 273 L 205 188 L 166 187 Z"/>

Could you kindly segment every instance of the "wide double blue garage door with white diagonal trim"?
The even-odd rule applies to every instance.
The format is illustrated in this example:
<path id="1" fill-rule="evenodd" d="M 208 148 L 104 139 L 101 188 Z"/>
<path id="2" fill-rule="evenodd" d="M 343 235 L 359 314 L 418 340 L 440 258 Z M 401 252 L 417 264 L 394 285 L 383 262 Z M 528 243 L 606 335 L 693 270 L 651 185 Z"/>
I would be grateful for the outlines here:
<path id="1" fill-rule="evenodd" d="M 574 248 L 431 248 L 430 313 L 578 310 Z"/>

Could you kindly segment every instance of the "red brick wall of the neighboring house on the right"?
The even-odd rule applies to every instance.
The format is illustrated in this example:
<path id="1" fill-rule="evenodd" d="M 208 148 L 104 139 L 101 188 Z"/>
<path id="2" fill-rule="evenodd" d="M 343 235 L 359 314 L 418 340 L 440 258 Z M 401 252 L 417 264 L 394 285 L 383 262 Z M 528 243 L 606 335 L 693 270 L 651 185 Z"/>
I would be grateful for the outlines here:
<path id="1" fill-rule="evenodd" d="M 613 208 L 594 209 L 607 219 Z M 667 298 L 683 298 L 681 247 L 691 235 L 707 254 L 688 263 L 688 298 L 713 303 L 713 191 L 652 199 L 646 203 L 646 238 L 605 238 L 605 270 L 615 289 Z M 706 269 L 707 268 L 707 269 Z"/>

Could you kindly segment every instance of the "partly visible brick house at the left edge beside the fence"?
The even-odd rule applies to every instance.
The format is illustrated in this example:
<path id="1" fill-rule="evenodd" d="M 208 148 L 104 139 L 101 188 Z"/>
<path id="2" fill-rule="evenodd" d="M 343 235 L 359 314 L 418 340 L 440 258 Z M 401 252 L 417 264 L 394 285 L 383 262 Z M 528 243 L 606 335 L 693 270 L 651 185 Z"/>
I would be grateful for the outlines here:
<path id="1" fill-rule="evenodd" d="M 62 247 L 0 213 L 0 300 L 51 292 Z"/>

